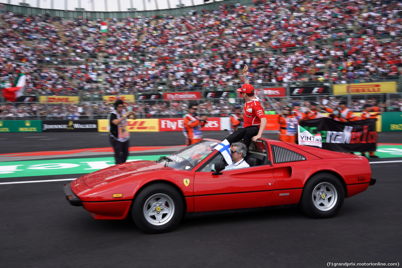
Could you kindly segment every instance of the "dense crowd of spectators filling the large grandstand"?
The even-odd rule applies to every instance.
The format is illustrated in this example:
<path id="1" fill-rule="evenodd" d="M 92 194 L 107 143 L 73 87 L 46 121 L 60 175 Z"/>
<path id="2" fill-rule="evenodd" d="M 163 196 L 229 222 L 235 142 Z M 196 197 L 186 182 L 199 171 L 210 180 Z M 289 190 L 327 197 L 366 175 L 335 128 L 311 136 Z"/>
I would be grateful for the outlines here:
<path id="1" fill-rule="evenodd" d="M 6 12 L 0 18 L 0 80 L 12 82 L 22 61 L 25 90 L 38 95 L 236 89 L 244 64 L 255 88 L 392 79 L 402 71 L 401 14 L 398 1 L 256 0 L 251 6 L 231 3 L 176 17 L 108 19 L 102 33 L 100 20 Z M 391 99 L 379 106 L 397 110 L 399 103 Z M 23 104 L 7 114 L 66 116 L 77 108 L 53 106 Z M 180 103 L 137 106 L 151 117 L 185 112 Z M 88 107 L 74 112 L 110 109 L 107 103 Z M 203 109 L 222 115 L 231 105 Z"/>

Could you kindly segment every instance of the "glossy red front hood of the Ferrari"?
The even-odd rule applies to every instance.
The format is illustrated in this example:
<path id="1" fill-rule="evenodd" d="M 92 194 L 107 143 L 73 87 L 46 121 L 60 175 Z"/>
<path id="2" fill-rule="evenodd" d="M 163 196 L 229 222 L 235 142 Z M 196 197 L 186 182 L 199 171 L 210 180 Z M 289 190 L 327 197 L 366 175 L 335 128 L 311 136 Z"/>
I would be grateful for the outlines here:
<path id="1" fill-rule="evenodd" d="M 126 177 L 166 169 L 167 167 L 154 161 L 137 161 L 107 167 L 85 175 L 81 179 L 89 189 L 93 189 Z"/>

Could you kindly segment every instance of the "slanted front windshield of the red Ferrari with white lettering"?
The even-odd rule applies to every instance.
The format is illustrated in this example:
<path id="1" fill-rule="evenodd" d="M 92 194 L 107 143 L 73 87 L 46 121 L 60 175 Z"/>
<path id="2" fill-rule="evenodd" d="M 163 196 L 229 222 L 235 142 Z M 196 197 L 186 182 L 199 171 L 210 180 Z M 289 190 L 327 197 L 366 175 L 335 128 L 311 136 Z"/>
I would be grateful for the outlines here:
<path id="1" fill-rule="evenodd" d="M 191 170 L 212 153 L 213 148 L 218 144 L 213 140 L 201 140 L 167 157 L 161 157 L 156 163 L 175 169 Z"/>

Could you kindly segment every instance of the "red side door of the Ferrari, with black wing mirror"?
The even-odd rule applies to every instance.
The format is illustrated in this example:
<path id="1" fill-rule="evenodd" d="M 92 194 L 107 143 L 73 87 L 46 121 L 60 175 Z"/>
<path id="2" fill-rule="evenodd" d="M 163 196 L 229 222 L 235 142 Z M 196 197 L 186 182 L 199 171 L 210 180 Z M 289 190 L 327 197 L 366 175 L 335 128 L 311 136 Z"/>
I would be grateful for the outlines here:
<path id="1" fill-rule="evenodd" d="M 271 165 L 212 173 L 202 169 L 195 172 L 195 212 L 261 207 L 275 189 Z"/>

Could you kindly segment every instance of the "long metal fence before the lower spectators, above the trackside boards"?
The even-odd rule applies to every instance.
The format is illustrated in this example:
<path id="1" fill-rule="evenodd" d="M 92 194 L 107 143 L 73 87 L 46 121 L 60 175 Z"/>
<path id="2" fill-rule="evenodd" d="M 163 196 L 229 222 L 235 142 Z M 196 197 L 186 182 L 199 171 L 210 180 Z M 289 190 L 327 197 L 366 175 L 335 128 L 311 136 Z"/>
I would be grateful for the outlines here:
<path id="1" fill-rule="evenodd" d="M 310 95 L 290 97 L 260 96 L 260 101 L 265 110 L 280 110 L 284 105 L 293 102 L 301 103 L 307 109 L 310 101 L 323 104 L 328 100 L 328 105 L 340 100 L 346 100 L 349 104 L 363 105 L 375 101 L 383 111 L 400 111 L 402 107 L 402 93 L 387 94 L 359 94 L 359 95 Z M 325 101 L 326 102 L 326 101 Z M 184 99 L 184 100 L 136 100 L 127 101 L 127 106 L 132 106 L 137 118 L 180 118 L 188 112 L 190 103 L 199 105 L 199 115 L 208 117 L 226 117 L 232 113 L 236 104 L 244 104 L 244 100 L 236 98 L 220 99 Z M 334 107 L 334 105 L 332 105 Z M 353 109 L 353 107 L 350 107 Z M 113 111 L 113 102 L 86 101 L 70 103 L 11 103 L 0 115 L 1 120 L 68 120 L 68 119 L 106 119 L 109 112 Z"/>

